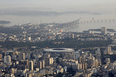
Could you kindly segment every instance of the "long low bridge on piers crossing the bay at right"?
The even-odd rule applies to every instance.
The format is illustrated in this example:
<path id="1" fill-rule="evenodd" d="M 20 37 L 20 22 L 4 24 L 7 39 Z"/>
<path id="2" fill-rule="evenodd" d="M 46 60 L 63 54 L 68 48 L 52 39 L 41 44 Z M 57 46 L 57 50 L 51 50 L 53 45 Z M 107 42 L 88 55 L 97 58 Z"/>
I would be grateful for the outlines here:
<path id="1" fill-rule="evenodd" d="M 86 24 L 86 23 L 100 23 L 100 22 L 115 22 L 116 19 L 99 19 L 99 20 L 89 20 L 89 21 L 79 21 L 79 24 Z"/>

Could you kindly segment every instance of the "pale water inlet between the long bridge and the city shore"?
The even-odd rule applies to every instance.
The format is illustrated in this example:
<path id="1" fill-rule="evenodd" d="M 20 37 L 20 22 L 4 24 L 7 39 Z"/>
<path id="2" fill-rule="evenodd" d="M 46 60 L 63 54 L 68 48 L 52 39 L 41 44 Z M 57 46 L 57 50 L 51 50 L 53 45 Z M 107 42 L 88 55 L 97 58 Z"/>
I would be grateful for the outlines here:
<path id="1" fill-rule="evenodd" d="M 99 23 L 85 23 L 85 24 L 78 24 L 69 29 L 68 31 L 74 32 L 82 32 L 83 30 L 89 29 L 100 29 L 101 27 L 106 27 L 108 29 L 115 29 L 116 30 L 116 21 L 115 22 L 99 22 Z"/>

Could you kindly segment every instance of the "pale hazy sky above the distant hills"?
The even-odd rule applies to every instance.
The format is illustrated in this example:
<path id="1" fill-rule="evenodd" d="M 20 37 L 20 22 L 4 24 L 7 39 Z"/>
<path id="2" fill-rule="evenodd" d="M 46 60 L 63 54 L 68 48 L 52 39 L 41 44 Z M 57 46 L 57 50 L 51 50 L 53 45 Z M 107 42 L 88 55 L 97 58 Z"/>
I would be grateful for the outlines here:
<path id="1" fill-rule="evenodd" d="M 50 8 L 55 11 L 113 11 L 115 4 L 116 0 L 0 0 L 0 8 Z"/>

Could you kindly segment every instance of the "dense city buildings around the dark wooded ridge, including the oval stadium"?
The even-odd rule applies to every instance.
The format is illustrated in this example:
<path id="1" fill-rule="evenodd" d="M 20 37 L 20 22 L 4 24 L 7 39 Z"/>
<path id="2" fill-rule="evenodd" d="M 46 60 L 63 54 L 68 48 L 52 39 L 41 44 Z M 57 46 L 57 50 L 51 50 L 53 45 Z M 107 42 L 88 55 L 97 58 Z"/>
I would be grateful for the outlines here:
<path id="1" fill-rule="evenodd" d="M 0 77 L 116 77 L 116 61 L 112 57 L 116 54 L 116 34 L 108 32 L 106 27 L 102 27 L 100 32 L 67 31 L 65 29 L 70 28 L 67 23 L 40 25 L 29 23 L 10 28 L 0 27 L 4 29 L 0 33 Z M 15 45 L 13 48 L 7 48 L 3 45 L 6 41 L 39 43 L 65 38 L 82 42 L 111 40 L 111 43 L 107 46 L 82 47 L 78 50 L 49 46 L 38 48 L 33 45 L 31 49 Z M 65 42 L 52 42 L 53 45 L 63 43 Z"/>

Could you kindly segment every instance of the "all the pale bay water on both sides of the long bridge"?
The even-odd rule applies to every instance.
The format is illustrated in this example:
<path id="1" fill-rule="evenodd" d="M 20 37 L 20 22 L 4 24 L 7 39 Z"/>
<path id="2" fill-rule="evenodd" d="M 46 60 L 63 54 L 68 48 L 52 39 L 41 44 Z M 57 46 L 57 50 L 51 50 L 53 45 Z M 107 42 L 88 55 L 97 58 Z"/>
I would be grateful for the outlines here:
<path id="1" fill-rule="evenodd" d="M 87 14 L 64 14 L 64 15 L 58 15 L 58 16 L 15 16 L 15 15 L 3 15 L 0 16 L 1 20 L 11 21 L 11 24 L 7 24 L 6 26 L 13 26 L 18 24 L 26 24 L 26 23 L 66 23 L 73 20 L 77 20 L 81 18 L 80 21 L 87 21 L 92 20 L 94 18 L 95 20 L 99 19 L 115 19 L 115 14 L 104 14 L 104 15 L 87 15 Z M 69 29 L 68 31 L 78 31 L 82 32 L 83 30 L 88 29 L 98 29 L 101 27 L 106 27 L 110 29 L 116 29 L 116 20 L 114 22 L 96 22 L 96 23 L 84 23 L 84 24 L 77 24 Z"/>

